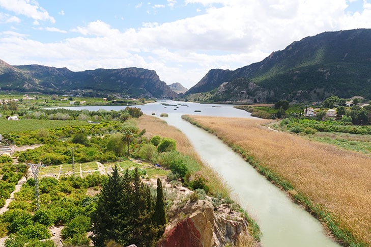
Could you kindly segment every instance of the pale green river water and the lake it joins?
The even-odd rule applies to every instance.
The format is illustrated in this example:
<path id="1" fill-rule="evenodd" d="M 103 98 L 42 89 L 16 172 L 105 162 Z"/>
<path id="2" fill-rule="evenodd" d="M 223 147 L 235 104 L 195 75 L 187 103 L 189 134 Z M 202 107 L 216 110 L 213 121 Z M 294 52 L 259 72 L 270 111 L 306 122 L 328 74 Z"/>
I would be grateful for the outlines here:
<path id="1" fill-rule="evenodd" d="M 292 202 L 283 191 L 256 172 L 231 148 L 216 136 L 181 118 L 184 114 L 250 118 L 249 113 L 236 109 L 233 105 L 177 101 L 160 101 L 137 107 L 147 115 L 154 113 L 154 116 L 159 117 L 161 113 L 168 114 L 167 118 L 161 119 L 177 127 L 188 137 L 204 162 L 217 171 L 231 187 L 232 198 L 258 222 L 263 233 L 263 246 L 339 246 L 326 236 L 316 218 Z M 125 106 L 66 108 L 97 111 L 100 108 L 119 110 Z"/>

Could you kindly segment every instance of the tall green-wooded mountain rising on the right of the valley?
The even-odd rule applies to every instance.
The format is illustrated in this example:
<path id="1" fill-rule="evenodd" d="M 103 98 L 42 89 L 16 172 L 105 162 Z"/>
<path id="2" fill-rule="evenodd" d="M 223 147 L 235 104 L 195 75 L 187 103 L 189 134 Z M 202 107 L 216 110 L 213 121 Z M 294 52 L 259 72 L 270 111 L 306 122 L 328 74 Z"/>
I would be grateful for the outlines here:
<path id="1" fill-rule="evenodd" d="M 205 101 L 371 98 L 371 30 L 325 32 L 295 41 L 258 63 L 233 71 L 212 69 L 186 95 L 205 92 Z"/>

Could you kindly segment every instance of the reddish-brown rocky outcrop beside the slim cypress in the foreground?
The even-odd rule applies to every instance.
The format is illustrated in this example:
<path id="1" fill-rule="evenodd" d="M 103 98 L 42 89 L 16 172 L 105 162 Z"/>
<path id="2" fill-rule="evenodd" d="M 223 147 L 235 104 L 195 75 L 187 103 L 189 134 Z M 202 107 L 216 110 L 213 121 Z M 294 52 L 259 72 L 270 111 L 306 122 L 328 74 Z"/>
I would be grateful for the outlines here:
<path id="1" fill-rule="evenodd" d="M 248 235 L 248 223 L 239 213 L 221 206 L 214 211 L 210 201 L 189 202 L 180 209 L 188 215 L 166 229 L 161 247 L 224 246 L 234 245 L 240 235 Z"/>

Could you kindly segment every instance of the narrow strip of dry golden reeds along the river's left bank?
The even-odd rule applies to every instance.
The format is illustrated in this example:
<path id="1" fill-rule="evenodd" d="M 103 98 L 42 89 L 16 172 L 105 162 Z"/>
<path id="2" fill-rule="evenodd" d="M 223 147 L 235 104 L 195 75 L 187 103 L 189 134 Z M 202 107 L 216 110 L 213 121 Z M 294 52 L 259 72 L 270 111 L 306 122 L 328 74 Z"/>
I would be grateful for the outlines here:
<path id="1" fill-rule="evenodd" d="M 229 197 L 230 189 L 225 186 L 219 175 L 214 172 L 210 167 L 207 167 L 201 161 L 196 151 L 193 149 L 187 137 L 177 128 L 167 125 L 165 121 L 152 116 L 141 116 L 136 120 L 140 129 L 146 129 L 146 135 L 151 137 L 154 135 L 160 135 L 163 137 L 171 138 L 177 142 L 177 150 L 184 154 L 191 156 L 198 162 L 198 171 L 200 171 L 204 177 L 208 178 L 207 185 L 210 187 L 210 192 L 217 196 Z M 249 223 L 249 233 L 255 241 L 260 241 L 261 232 L 258 224 L 245 213 L 245 217 Z"/>

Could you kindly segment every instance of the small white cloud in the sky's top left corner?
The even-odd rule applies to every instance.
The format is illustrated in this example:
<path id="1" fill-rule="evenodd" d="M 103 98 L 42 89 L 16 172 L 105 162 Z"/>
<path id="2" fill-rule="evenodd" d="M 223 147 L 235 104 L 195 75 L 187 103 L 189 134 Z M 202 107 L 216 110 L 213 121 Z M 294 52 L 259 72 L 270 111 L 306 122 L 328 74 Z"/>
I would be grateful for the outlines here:
<path id="1" fill-rule="evenodd" d="M 48 12 L 40 7 L 35 0 L 0 0 L 0 6 L 35 20 L 49 20 L 51 23 L 55 23 L 54 18 L 49 16 Z"/>

